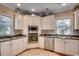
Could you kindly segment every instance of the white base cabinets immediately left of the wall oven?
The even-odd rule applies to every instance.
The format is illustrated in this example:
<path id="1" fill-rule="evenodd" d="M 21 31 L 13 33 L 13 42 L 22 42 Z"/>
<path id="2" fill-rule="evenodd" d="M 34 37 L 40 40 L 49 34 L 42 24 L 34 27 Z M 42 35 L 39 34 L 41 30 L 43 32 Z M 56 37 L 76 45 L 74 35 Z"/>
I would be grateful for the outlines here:
<path id="1" fill-rule="evenodd" d="M 24 51 L 27 46 L 26 38 L 17 38 L 12 40 L 12 55 L 17 55 Z"/>

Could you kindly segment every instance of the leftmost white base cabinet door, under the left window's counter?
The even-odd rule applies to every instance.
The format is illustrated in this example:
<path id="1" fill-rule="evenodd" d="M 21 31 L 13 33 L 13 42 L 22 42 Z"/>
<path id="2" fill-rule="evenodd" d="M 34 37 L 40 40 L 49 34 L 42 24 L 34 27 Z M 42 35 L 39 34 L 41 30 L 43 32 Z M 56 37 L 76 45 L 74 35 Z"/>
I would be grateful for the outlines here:
<path id="1" fill-rule="evenodd" d="M 11 56 L 11 41 L 1 43 L 1 55 Z"/>

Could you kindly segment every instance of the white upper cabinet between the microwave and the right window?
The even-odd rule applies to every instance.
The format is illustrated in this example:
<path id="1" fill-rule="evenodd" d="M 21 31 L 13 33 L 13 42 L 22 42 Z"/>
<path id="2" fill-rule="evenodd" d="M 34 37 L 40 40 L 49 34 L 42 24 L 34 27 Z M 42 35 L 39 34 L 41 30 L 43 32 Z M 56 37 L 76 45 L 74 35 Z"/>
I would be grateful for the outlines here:
<path id="1" fill-rule="evenodd" d="M 42 30 L 54 30 L 54 15 L 46 16 L 42 18 L 41 29 Z"/>

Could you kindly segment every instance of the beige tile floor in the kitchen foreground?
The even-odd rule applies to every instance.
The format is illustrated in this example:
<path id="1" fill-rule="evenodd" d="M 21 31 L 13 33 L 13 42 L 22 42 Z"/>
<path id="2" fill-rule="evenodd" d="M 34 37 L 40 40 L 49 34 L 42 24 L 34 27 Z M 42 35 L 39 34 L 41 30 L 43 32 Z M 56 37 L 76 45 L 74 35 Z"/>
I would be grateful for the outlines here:
<path id="1" fill-rule="evenodd" d="M 43 49 L 30 49 L 27 50 L 18 56 L 60 56 L 54 52 L 43 50 Z"/>

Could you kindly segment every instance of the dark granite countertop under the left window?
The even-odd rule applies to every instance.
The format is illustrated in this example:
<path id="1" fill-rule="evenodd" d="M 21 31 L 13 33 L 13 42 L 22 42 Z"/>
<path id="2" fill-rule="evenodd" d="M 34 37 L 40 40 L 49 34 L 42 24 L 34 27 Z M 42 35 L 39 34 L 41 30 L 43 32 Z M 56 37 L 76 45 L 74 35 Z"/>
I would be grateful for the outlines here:
<path id="1" fill-rule="evenodd" d="M 27 37 L 27 36 L 26 36 L 26 35 L 1 36 L 1 37 L 0 37 L 0 43 L 1 43 L 1 42 L 10 41 L 10 40 L 19 39 L 19 38 L 23 38 L 23 37 Z"/>

